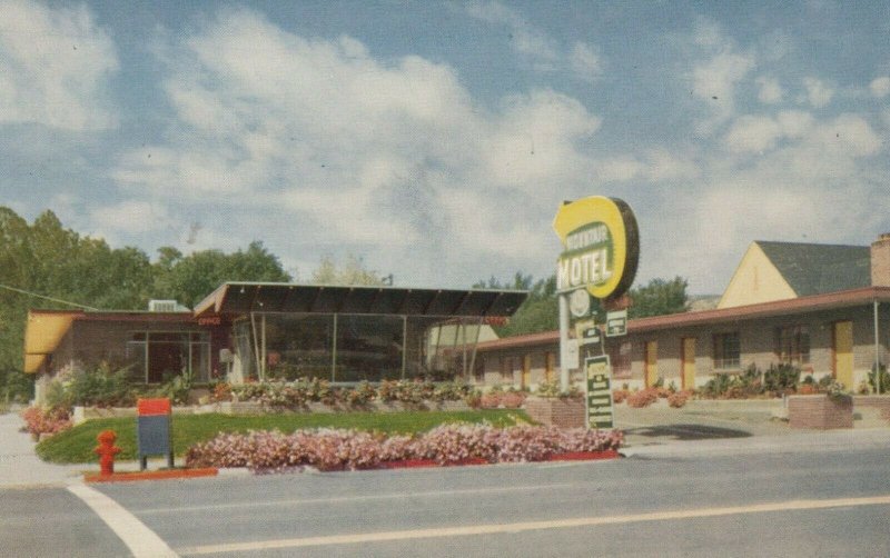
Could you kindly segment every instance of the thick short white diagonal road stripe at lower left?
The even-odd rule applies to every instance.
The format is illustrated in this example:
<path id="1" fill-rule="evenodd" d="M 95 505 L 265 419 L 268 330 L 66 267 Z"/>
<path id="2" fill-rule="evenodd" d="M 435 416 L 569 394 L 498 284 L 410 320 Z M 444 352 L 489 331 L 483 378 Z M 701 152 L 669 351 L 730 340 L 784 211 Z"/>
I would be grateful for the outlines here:
<path id="1" fill-rule="evenodd" d="M 87 485 L 71 485 L 68 490 L 92 508 L 137 558 L 177 558 L 179 556 L 155 531 L 102 492 Z"/>

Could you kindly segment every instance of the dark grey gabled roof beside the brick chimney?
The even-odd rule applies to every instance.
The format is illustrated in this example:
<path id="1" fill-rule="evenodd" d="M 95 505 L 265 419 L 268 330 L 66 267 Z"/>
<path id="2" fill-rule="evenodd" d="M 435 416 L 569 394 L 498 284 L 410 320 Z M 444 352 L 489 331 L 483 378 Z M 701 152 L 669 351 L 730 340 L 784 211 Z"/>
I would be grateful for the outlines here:
<path id="1" fill-rule="evenodd" d="M 867 246 L 755 242 L 799 297 L 860 289 L 871 285 Z"/>

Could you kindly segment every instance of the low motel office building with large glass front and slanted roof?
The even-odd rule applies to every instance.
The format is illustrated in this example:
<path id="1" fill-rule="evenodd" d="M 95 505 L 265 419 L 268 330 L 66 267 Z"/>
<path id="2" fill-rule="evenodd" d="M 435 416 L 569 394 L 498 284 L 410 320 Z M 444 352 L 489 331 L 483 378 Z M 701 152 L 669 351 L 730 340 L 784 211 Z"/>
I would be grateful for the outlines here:
<path id="1" fill-rule="evenodd" d="M 134 381 L 189 375 L 196 385 L 300 377 L 349 385 L 469 377 L 475 346 L 496 339 L 527 297 L 445 290 L 227 282 L 194 310 L 155 300 L 147 311 L 30 310 L 24 370 L 46 382 L 101 362 Z"/>

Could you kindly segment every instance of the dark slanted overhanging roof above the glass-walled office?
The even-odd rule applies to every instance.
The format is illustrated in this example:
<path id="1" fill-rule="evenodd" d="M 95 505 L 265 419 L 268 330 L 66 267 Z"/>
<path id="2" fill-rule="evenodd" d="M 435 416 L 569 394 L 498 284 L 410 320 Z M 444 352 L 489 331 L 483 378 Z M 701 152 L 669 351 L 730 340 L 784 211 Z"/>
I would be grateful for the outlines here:
<path id="1" fill-rule="evenodd" d="M 526 291 L 517 290 L 227 282 L 195 307 L 195 316 L 288 312 L 506 317 L 527 296 Z"/>

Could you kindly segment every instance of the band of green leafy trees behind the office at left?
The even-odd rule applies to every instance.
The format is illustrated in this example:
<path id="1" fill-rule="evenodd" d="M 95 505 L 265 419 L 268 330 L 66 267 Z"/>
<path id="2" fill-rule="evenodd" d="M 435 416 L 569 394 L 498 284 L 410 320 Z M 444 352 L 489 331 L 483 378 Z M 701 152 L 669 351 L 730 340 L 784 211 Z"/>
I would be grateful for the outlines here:
<path id="1" fill-rule="evenodd" d="M 132 247 L 112 249 L 102 239 L 67 229 L 52 211 L 32 225 L 0 207 L 0 376 L 22 368 L 29 308 L 144 310 L 150 298 L 197 303 L 224 281 L 289 281 L 278 259 L 251 242 L 247 250 L 184 256 L 158 250 L 156 263 Z"/>

